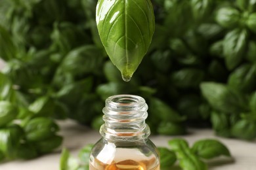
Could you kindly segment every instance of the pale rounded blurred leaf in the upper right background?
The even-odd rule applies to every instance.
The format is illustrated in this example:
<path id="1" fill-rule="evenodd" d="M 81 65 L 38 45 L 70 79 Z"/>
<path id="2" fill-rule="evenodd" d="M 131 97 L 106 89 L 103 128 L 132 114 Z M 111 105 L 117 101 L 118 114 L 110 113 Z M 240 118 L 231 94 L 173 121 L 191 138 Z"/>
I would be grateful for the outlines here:
<path id="1" fill-rule="evenodd" d="M 215 20 L 217 23 L 226 28 L 237 27 L 240 22 L 241 14 L 239 10 L 232 7 L 224 7 L 217 10 Z"/>

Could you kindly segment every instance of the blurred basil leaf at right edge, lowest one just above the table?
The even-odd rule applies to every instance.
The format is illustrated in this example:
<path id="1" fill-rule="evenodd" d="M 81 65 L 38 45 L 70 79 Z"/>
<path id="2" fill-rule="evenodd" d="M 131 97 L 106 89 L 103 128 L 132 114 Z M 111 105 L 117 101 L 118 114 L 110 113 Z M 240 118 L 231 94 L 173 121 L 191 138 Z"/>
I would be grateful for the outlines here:
<path id="1" fill-rule="evenodd" d="M 240 139 L 253 140 L 256 137 L 256 122 L 245 119 L 239 120 L 232 126 L 231 133 Z"/>

